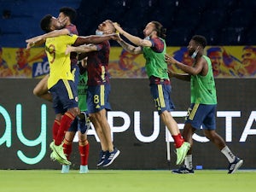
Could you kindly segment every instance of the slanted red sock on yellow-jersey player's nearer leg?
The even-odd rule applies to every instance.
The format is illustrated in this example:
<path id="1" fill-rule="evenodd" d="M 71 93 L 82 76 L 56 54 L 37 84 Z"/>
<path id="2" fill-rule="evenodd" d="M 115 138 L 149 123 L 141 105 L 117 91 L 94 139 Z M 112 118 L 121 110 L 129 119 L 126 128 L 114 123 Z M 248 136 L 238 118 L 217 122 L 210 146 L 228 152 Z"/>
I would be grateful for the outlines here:
<path id="1" fill-rule="evenodd" d="M 58 135 L 55 137 L 55 145 L 61 145 L 63 138 L 65 136 L 65 132 L 70 127 L 74 116 L 72 113 L 66 112 L 63 117 L 61 118 L 61 125 L 58 131 Z"/>

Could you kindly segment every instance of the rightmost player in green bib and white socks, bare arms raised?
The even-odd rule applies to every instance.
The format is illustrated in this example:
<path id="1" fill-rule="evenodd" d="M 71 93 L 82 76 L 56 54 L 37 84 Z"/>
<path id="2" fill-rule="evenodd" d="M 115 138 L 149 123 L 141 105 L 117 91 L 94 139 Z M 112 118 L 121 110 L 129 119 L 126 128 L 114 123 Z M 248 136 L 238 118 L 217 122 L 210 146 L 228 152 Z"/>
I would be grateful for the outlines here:
<path id="1" fill-rule="evenodd" d="M 190 81 L 191 105 L 185 119 L 183 138 L 193 145 L 192 136 L 195 131 L 203 128 L 205 136 L 216 145 L 230 162 L 229 172 L 234 173 L 242 165 L 243 160 L 234 155 L 224 143 L 224 139 L 216 130 L 215 113 L 217 108 L 217 96 L 215 82 L 212 73 L 212 62 L 209 57 L 203 55 L 207 40 L 203 36 L 195 35 L 189 42 L 189 55 L 195 60 L 192 67 L 185 65 L 172 56 L 166 55 L 169 64 L 176 65 L 183 74 L 169 72 L 169 77 Z M 173 173 L 194 173 L 192 165 L 192 148 L 185 157 L 184 166 Z"/>

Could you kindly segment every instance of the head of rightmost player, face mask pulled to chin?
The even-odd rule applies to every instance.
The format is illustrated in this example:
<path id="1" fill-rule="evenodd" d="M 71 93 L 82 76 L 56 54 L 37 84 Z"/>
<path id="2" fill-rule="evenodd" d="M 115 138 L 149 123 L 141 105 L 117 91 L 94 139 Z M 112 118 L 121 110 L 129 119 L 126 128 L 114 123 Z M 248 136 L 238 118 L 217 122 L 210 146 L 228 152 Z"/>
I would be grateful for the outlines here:
<path id="1" fill-rule="evenodd" d="M 195 58 L 198 52 L 203 52 L 203 49 L 207 46 L 207 39 L 201 35 L 195 35 L 189 41 L 189 55 Z"/>

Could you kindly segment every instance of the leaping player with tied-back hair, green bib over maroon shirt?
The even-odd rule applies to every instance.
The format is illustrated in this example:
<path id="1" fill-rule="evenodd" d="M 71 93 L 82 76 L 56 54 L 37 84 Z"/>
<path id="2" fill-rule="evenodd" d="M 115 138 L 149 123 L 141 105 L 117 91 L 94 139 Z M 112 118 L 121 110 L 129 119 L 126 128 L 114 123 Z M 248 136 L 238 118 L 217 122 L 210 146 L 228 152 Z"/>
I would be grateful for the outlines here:
<path id="1" fill-rule="evenodd" d="M 155 107 L 160 118 L 163 120 L 174 139 L 177 161 L 180 165 L 189 150 L 189 143 L 184 142 L 177 127 L 177 122 L 170 113 L 174 105 L 171 99 L 171 84 L 167 73 L 166 54 L 166 29 L 158 21 L 151 21 L 143 30 L 145 38 L 138 38 L 125 32 L 117 23 L 113 24 L 119 34 L 125 36 L 132 44 L 127 44 L 122 38 L 118 43 L 132 54 L 142 54 L 146 59 L 146 71 L 150 82 L 150 91 L 153 96 Z"/>

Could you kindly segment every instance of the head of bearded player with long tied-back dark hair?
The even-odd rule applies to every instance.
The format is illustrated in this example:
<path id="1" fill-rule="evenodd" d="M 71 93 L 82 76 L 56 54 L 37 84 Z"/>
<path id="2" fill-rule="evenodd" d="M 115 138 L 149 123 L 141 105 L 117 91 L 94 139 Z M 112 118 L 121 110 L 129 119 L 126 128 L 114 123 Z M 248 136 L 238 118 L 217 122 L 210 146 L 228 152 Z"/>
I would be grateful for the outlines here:
<path id="1" fill-rule="evenodd" d="M 158 21 L 151 21 L 143 30 L 145 37 L 151 38 L 152 36 L 166 38 L 166 28 Z"/>

